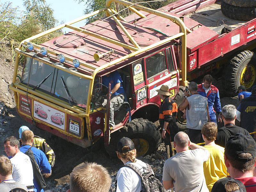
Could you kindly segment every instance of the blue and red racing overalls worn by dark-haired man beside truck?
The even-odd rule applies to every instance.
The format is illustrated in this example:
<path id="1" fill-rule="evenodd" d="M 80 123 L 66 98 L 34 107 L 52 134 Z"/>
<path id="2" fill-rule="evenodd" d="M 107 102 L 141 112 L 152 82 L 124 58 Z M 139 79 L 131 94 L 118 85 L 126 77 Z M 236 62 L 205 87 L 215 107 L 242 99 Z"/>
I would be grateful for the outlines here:
<path id="1" fill-rule="evenodd" d="M 197 92 L 208 98 L 208 108 L 209 108 L 209 115 L 211 117 L 211 120 L 216 119 L 216 112 L 221 112 L 221 105 L 220 105 L 220 94 L 217 87 L 214 85 L 211 85 L 211 89 L 208 91 L 207 95 L 204 91 L 203 84 L 200 84 L 197 86 Z M 214 110 L 215 109 L 215 110 Z"/>

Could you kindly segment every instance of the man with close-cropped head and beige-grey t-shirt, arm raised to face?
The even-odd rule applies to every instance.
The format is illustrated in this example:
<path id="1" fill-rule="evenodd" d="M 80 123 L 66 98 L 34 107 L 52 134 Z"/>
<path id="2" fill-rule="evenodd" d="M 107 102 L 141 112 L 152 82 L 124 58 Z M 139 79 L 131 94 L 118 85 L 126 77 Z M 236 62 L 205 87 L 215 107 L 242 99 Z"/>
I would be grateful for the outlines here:
<path id="1" fill-rule="evenodd" d="M 208 192 L 204 178 L 203 164 L 210 154 L 204 147 L 190 142 L 185 132 L 174 137 L 177 153 L 164 163 L 163 184 L 165 189 L 175 188 L 175 192 Z M 190 147 L 193 150 L 189 150 Z"/>

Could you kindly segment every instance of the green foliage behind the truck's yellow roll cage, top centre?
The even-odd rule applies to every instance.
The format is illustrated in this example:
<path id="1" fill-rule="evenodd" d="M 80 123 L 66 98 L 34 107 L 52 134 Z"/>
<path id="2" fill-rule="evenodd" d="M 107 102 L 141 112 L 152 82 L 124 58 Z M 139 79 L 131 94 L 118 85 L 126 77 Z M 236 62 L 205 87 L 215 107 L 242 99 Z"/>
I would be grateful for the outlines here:
<path id="1" fill-rule="evenodd" d="M 84 14 L 88 14 L 90 12 L 93 12 L 93 11 L 97 11 L 103 7 L 105 7 L 106 5 L 106 2 L 107 0 L 76 0 L 78 1 L 79 3 L 84 3 L 85 4 L 85 7 L 86 9 L 84 10 Z M 139 3 L 139 5 L 142 5 L 142 6 L 145 6 L 145 7 L 148 7 L 148 8 L 152 8 L 152 9 L 158 9 L 160 7 L 163 7 L 167 4 L 170 4 L 172 2 L 175 2 L 177 0 L 163 0 L 163 1 L 152 1 L 152 2 L 147 2 L 147 1 L 139 1 L 139 0 L 130 0 L 129 2 L 132 2 L 132 3 Z M 126 17 L 130 14 L 132 14 L 133 12 L 129 11 L 128 9 L 125 9 L 126 7 L 124 5 L 117 5 L 118 6 L 118 11 L 121 11 L 119 14 L 123 17 Z M 114 5 L 113 3 L 111 4 L 111 8 L 114 8 L 116 7 L 116 5 Z M 91 23 L 95 20 L 99 20 L 103 17 L 105 17 L 106 14 L 105 12 L 102 12 L 100 14 L 97 14 L 95 16 L 92 16 L 90 18 L 87 19 L 87 22 L 88 23 Z"/>

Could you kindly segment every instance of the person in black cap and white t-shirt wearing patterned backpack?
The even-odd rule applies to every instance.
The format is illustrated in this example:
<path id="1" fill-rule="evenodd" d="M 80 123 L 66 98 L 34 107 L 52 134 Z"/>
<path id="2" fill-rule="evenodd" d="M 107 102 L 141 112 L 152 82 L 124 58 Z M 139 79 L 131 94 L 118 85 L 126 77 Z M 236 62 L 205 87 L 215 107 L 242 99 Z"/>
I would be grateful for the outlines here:
<path id="1" fill-rule="evenodd" d="M 136 159 L 136 149 L 131 139 L 123 137 L 117 143 L 117 157 L 124 163 L 116 176 L 116 192 L 163 192 L 149 164 Z"/>

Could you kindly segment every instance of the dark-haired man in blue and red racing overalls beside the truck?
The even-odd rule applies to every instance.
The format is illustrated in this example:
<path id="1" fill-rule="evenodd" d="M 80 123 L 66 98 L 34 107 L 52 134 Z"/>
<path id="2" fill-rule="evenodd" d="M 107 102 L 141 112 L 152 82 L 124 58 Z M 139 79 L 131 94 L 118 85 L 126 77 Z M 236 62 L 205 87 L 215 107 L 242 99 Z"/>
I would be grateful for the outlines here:
<path id="1" fill-rule="evenodd" d="M 213 77 L 211 75 L 204 76 L 203 83 L 197 86 L 197 92 L 208 98 L 208 108 L 211 122 L 217 124 L 216 112 L 218 114 L 218 122 L 221 122 L 221 105 L 220 95 L 217 87 L 212 85 Z M 214 107 L 214 108 L 213 108 Z M 215 110 L 216 112 L 215 112 Z"/>

